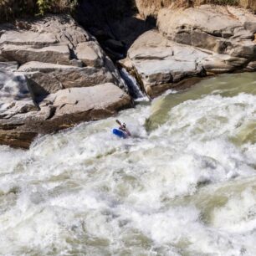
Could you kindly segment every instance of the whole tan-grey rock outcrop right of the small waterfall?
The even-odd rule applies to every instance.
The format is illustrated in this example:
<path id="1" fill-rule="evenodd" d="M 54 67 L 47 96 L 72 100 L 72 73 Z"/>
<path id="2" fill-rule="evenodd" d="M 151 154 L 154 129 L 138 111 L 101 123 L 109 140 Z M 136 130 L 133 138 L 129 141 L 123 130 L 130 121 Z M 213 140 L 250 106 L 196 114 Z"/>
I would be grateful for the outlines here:
<path id="1" fill-rule="evenodd" d="M 157 25 L 159 31 L 142 34 L 120 62 L 152 97 L 187 77 L 255 70 L 256 20 L 244 9 L 163 8 Z"/>

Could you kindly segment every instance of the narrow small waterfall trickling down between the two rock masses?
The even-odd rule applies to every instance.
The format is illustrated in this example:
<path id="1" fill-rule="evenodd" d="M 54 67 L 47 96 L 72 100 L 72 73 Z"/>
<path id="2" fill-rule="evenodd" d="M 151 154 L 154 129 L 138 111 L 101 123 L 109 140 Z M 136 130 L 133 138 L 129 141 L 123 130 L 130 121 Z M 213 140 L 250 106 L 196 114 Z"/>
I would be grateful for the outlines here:
<path id="1" fill-rule="evenodd" d="M 133 99 L 139 100 L 141 98 L 147 99 L 146 95 L 141 91 L 140 85 L 137 83 L 135 77 L 127 72 L 126 69 L 120 69 L 122 79 L 125 80 L 125 84 L 128 86 L 128 90 Z"/>

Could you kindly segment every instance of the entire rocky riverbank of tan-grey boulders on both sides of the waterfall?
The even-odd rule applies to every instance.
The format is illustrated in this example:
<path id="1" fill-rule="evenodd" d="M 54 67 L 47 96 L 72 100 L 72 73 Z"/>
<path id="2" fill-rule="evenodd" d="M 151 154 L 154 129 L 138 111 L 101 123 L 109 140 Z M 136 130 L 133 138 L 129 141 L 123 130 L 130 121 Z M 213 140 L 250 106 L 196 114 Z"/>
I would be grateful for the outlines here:
<path id="1" fill-rule="evenodd" d="M 129 47 L 119 63 L 150 97 L 190 77 L 256 70 L 256 17 L 248 10 L 160 8 L 154 29 L 138 15 L 110 23 L 116 37 L 101 43 L 112 59 Z M 97 39 L 68 15 L 0 25 L 0 144 L 27 148 L 38 134 L 113 115 L 131 107 L 127 91 Z"/>

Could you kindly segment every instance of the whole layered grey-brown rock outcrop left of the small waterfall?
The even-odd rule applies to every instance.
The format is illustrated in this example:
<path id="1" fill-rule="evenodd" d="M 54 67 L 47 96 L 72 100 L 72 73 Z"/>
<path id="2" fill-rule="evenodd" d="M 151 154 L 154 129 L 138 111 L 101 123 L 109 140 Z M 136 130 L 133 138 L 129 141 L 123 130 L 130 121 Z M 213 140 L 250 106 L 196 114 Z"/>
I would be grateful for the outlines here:
<path id="1" fill-rule="evenodd" d="M 131 106 L 119 71 L 69 16 L 0 27 L 0 144 L 48 134 Z"/>

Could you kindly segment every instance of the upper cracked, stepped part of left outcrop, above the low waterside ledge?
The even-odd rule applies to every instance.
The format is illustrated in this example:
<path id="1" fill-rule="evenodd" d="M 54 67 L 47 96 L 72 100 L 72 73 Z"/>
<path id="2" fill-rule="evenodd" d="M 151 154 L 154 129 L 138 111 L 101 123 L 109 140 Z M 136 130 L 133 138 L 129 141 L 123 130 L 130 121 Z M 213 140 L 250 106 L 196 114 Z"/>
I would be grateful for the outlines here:
<path id="1" fill-rule="evenodd" d="M 56 79 L 64 84 L 61 85 L 64 88 L 106 82 L 124 88 L 125 84 L 120 79 L 118 70 L 100 48 L 100 44 L 68 15 L 50 15 L 31 21 L 19 20 L 16 24 L 0 25 L 0 60 L 17 61 L 22 65 L 19 71 L 24 74 L 43 74 L 44 78 L 39 78 L 38 73 L 30 74 L 29 79 L 33 84 L 44 88 L 46 81 L 52 83 L 53 90 L 46 90 L 49 93 L 56 90 Z M 48 67 L 51 74 L 46 74 L 49 73 L 45 71 Z M 88 69 L 81 69 L 83 67 Z M 67 77 L 67 82 L 64 81 L 64 76 Z M 50 89 L 51 85 L 48 87 Z"/>

